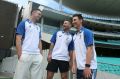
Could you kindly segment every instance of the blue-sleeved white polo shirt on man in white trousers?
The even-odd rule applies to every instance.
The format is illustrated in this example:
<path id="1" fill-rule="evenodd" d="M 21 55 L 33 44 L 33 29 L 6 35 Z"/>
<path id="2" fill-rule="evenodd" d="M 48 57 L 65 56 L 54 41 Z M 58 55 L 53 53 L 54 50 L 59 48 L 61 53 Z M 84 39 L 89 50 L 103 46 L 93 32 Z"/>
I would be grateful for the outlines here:
<path id="1" fill-rule="evenodd" d="M 27 54 L 40 54 L 39 41 L 41 38 L 40 27 L 25 20 L 20 22 L 16 30 L 17 35 L 22 35 L 22 51 Z"/>

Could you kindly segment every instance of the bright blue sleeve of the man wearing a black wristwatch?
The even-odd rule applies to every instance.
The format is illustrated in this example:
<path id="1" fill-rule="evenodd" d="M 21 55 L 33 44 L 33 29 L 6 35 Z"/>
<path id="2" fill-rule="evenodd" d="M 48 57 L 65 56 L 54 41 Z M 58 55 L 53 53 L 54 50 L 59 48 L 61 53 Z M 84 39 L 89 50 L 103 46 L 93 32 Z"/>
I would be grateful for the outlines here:
<path id="1" fill-rule="evenodd" d="M 85 36 L 84 36 L 84 39 L 85 39 L 85 45 L 86 47 L 89 47 L 91 45 L 93 45 L 93 40 L 94 40 L 94 35 L 93 33 L 90 31 L 90 30 L 85 30 Z"/>

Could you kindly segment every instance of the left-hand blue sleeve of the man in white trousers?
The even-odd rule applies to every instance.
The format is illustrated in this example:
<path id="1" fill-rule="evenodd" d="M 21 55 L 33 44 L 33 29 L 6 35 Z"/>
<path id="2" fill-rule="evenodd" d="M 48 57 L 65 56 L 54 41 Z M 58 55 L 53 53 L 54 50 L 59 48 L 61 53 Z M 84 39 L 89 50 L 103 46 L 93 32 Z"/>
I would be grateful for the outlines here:
<path id="1" fill-rule="evenodd" d="M 20 22 L 20 24 L 18 25 L 16 29 L 16 34 L 22 35 L 23 37 L 25 36 L 25 22 L 24 21 Z"/>

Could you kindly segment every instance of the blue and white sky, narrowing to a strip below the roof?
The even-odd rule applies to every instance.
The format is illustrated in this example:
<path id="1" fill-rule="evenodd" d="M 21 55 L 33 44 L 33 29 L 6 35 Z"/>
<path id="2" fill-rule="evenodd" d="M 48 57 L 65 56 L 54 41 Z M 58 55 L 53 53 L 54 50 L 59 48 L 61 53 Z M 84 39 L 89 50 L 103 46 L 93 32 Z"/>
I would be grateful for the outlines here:
<path id="1" fill-rule="evenodd" d="M 39 3 L 39 4 L 42 4 L 42 5 L 45 5 L 45 6 L 48 6 L 50 8 L 53 8 L 55 10 L 60 10 L 60 6 L 57 2 L 55 2 L 54 0 L 6 0 L 6 1 L 10 1 L 10 2 L 13 2 L 13 3 L 17 3 L 19 7 L 21 6 L 26 6 L 28 4 L 28 1 L 32 1 L 32 2 L 36 2 L 36 3 Z M 65 12 L 65 13 L 68 13 L 68 14 L 75 14 L 75 13 L 81 13 L 81 12 L 76 12 L 70 8 L 67 8 L 65 6 L 62 6 L 62 11 Z M 105 18 L 105 17 L 98 17 L 98 16 L 92 16 L 92 15 L 89 15 L 89 14 L 85 14 L 85 13 L 81 13 L 83 15 L 83 17 L 89 17 L 89 18 L 98 18 L 98 19 L 108 19 L 109 18 Z"/>

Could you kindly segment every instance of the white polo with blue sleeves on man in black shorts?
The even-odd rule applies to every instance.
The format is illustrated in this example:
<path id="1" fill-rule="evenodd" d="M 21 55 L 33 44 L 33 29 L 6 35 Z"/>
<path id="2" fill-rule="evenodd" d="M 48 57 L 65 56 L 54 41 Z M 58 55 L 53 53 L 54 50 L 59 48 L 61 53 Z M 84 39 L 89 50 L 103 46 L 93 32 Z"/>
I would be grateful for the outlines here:
<path id="1" fill-rule="evenodd" d="M 53 34 L 51 43 L 54 44 L 52 59 L 69 61 L 69 51 L 74 49 L 72 35 L 64 31 Z"/>

